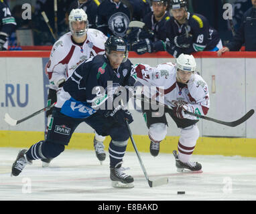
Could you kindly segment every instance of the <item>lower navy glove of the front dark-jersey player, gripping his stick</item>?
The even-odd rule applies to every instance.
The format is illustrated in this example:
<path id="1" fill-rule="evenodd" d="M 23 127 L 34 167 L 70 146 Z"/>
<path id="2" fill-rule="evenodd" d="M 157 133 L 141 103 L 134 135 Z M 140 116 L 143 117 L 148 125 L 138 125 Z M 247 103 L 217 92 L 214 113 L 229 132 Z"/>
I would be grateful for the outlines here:
<path id="1" fill-rule="evenodd" d="M 133 122 L 133 116 L 131 116 L 131 112 L 129 112 L 127 109 L 123 110 L 121 105 L 117 106 L 111 111 L 108 111 L 105 116 L 113 117 L 113 119 L 119 124 L 123 124 L 125 120 L 127 120 L 129 124 Z"/>

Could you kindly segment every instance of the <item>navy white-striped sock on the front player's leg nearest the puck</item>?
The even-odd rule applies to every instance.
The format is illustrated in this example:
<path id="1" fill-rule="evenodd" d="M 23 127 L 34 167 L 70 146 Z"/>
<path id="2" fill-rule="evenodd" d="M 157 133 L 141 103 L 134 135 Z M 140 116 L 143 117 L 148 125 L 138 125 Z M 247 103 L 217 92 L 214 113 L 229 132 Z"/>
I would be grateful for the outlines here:
<path id="1" fill-rule="evenodd" d="M 123 161 L 123 156 L 125 156 L 126 146 L 117 146 L 112 140 L 109 144 L 109 159 L 110 159 L 110 167 L 114 168 L 118 163 Z"/>

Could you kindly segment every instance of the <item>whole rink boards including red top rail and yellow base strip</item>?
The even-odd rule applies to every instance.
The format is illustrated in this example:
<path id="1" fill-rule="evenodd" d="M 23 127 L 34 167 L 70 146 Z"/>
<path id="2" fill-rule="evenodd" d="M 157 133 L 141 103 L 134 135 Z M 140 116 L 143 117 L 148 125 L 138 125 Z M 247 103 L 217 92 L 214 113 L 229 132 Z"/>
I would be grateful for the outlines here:
<path id="1" fill-rule="evenodd" d="M 38 51 L 40 52 L 40 51 Z M 47 104 L 48 78 L 44 68 L 49 60 L 49 51 L 41 51 L 34 56 L 19 51 L 17 57 L 0 55 L 0 146 L 30 146 L 44 139 L 46 116 L 38 114 L 17 126 L 9 126 L 3 118 L 8 113 L 12 118 L 21 119 L 32 114 Z M 207 52 L 206 52 L 207 53 Z M 210 110 L 207 116 L 219 120 L 233 121 L 241 118 L 250 109 L 256 109 L 253 100 L 255 90 L 255 56 L 231 55 L 229 58 L 216 58 L 211 54 L 197 54 L 196 71 L 208 84 L 210 92 Z M 144 58 L 131 53 L 133 64 L 149 64 L 156 66 L 165 62 L 174 62 L 174 58 L 166 53 L 145 54 Z M 134 102 L 129 106 L 134 107 Z M 141 152 L 149 152 L 147 126 L 140 111 L 140 103 L 135 103 L 136 110 L 131 110 L 134 122 L 131 131 L 137 147 Z M 161 152 L 172 152 L 176 149 L 180 130 L 172 119 L 168 118 L 168 135 L 161 143 Z M 200 138 L 194 154 L 223 154 L 256 156 L 256 120 L 253 115 L 247 122 L 229 127 L 207 120 L 200 120 L 198 128 Z M 92 128 L 80 124 L 72 136 L 68 148 L 92 149 Z M 109 138 L 105 140 L 109 144 Z M 108 148 L 108 146 L 106 146 Z M 128 150 L 133 150 L 131 143 Z"/>

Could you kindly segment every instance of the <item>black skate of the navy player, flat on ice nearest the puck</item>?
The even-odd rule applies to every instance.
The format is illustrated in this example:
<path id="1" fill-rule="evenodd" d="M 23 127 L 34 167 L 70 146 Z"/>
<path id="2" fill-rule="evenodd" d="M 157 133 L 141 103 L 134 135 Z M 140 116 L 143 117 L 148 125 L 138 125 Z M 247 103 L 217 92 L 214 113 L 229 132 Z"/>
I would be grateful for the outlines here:
<path id="1" fill-rule="evenodd" d="M 112 181 L 112 187 L 115 188 L 132 188 L 133 177 L 123 173 L 122 162 L 118 163 L 114 168 L 110 169 L 110 179 Z"/>

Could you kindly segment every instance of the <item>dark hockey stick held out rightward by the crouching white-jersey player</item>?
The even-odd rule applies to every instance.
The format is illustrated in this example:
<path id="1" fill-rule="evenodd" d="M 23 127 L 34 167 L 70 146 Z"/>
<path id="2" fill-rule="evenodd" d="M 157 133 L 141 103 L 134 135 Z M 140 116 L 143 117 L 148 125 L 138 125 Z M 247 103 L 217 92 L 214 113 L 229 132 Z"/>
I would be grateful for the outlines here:
<path id="1" fill-rule="evenodd" d="M 138 100 L 142 100 L 144 102 L 147 102 L 149 104 L 151 104 L 151 102 L 149 101 L 149 98 L 142 98 L 141 96 L 135 96 L 136 99 Z M 156 101 L 156 100 L 155 100 Z M 157 102 L 157 101 L 156 101 Z M 168 110 L 172 110 L 173 111 L 173 108 L 172 106 L 169 106 L 169 105 L 166 105 L 166 104 L 162 104 L 160 102 L 157 102 L 157 104 L 159 106 L 163 106 L 164 108 L 168 108 Z M 232 122 L 226 122 L 226 121 L 222 121 L 222 120 L 217 120 L 217 119 L 214 119 L 214 118 L 210 118 L 208 116 L 203 116 L 203 115 L 200 115 L 200 114 L 196 114 L 196 113 L 193 113 L 193 112 L 188 112 L 188 111 L 184 111 L 186 114 L 190 114 L 192 116 L 196 116 L 197 118 L 202 118 L 204 120 L 209 120 L 209 121 L 212 121 L 212 122 L 216 122 L 218 124 L 222 124 L 222 125 L 225 125 L 225 126 L 231 126 L 231 127 L 235 127 L 235 126 L 238 126 L 240 124 L 242 124 L 243 122 L 245 122 L 246 120 L 248 120 L 253 114 L 254 114 L 254 110 L 251 109 L 249 110 L 249 112 L 247 112 L 244 116 L 242 116 L 241 118 L 239 118 L 238 120 L 235 120 L 235 121 L 232 121 Z"/>

